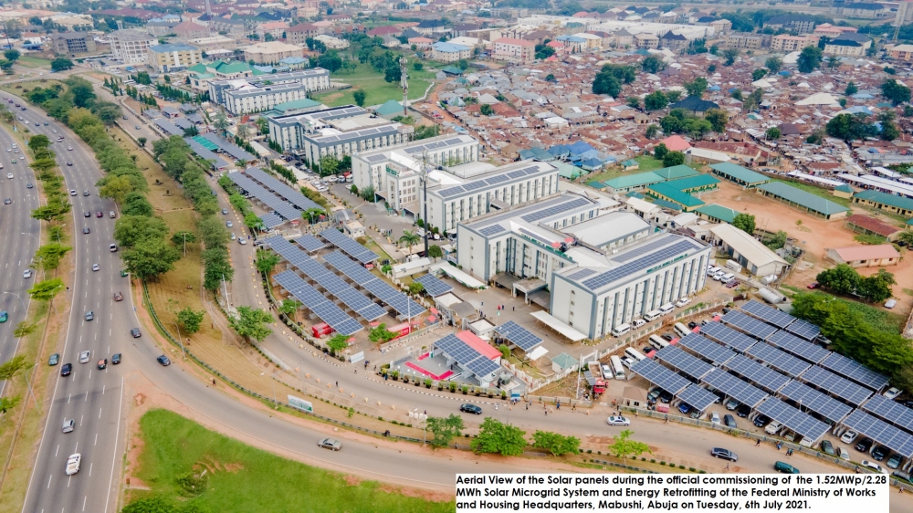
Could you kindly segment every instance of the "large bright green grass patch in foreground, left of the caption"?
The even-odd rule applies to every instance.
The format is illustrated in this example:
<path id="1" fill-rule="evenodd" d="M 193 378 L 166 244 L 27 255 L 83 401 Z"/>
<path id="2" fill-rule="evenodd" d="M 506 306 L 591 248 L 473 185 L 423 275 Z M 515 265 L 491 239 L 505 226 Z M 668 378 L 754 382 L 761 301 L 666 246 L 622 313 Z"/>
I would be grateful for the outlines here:
<path id="1" fill-rule="evenodd" d="M 453 511 L 450 502 L 429 502 L 381 490 L 382 485 L 362 481 L 350 485 L 336 472 L 307 466 L 272 455 L 205 429 L 167 410 L 152 410 L 140 420 L 143 449 L 139 469 L 149 491 L 131 490 L 129 500 L 160 497 L 171 504 L 194 505 L 202 511 Z M 302 444 L 313 444 L 303 440 Z M 328 451 L 329 452 L 329 451 Z M 196 479 L 206 471 L 202 482 Z M 192 476 L 194 497 L 186 483 Z M 125 511 L 131 510 L 130 506 Z M 139 509 L 138 509 L 139 510 Z M 142 509 L 146 511 L 146 509 Z"/>

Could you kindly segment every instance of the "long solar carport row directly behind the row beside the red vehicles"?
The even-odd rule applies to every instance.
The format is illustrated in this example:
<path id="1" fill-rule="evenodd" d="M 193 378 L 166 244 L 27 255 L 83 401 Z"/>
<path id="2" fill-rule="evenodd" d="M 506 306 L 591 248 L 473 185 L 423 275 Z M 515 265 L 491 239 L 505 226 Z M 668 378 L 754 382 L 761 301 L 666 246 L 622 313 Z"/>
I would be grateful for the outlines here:
<path id="1" fill-rule="evenodd" d="M 269 246 L 281 257 L 289 261 L 292 266 L 298 267 L 310 279 L 320 284 L 327 292 L 338 298 L 345 306 L 357 312 L 365 320 L 376 320 L 387 314 L 386 310 L 375 304 L 364 294 L 352 288 L 341 277 L 323 267 L 320 262 L 305 255 L 298 247 L 292 245 L 281 236 L 271 236 L 263 241 L 264 246 Z"/>

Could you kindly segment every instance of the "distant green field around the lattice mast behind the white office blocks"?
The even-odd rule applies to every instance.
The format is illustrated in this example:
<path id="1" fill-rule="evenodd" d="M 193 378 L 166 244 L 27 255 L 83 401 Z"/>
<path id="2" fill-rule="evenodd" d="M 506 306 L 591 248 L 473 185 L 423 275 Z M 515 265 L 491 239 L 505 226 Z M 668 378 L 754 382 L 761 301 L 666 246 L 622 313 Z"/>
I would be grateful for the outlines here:
<path id="1" fill-rule="evenodd" d="M 421 98 L 425 95 L 425 89 L 428 84 L 435 78 L 435 73 L 431 71 L 415 71 L 412 68 L 412 62 L 415 59 L 409 59 L 409 99 Z M 320 101 L 328 107 L 337 107 L 340 105 L 354 104 L 355 99 L 352 93 L 357 89 L 362 89 L 365 93 L 364 104 L 378 105 L 388 99 L 397 101 L 403 99 L 403 89 L 400 88 L 399 82 L 389 83 L 383 79 L 383 73 L 378 73 L 370 64 L 359 64 L 358 68 L 349 73 L 334 73 L 331 77 L 334 81 L 344 82 L 352 85 L 352 89 L 326 92 L 314 95 L 315 101 Z"/>

